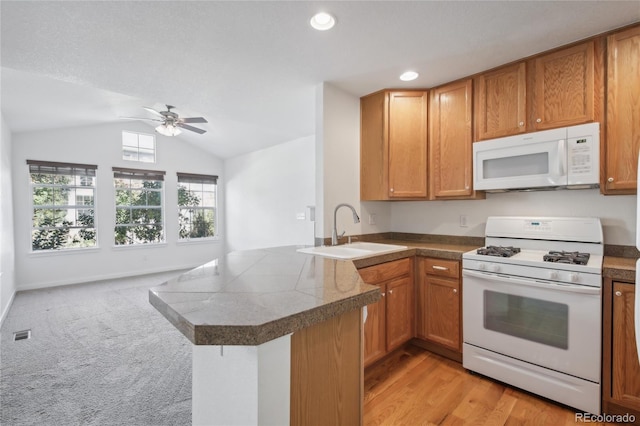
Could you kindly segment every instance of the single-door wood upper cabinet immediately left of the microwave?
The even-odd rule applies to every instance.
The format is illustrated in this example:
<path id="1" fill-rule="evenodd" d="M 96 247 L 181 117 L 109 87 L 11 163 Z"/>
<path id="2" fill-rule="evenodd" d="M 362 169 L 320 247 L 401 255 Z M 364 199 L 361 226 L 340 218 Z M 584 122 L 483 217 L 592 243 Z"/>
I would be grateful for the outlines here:
<path id="1" fill-rule="evenodd" d="M 469 198 L 473 191 L 472 80 L 431 90 L 430 199 Z"/>

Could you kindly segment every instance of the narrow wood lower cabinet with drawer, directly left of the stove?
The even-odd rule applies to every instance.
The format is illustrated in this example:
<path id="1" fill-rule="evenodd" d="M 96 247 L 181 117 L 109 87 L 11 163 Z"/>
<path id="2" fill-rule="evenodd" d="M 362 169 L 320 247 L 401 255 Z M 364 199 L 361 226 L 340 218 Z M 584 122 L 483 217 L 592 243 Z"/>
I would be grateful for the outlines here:
<path id="1" fill-rule="evenodd" d="M 416 337 L 421 346 L 462 361 L 460 262 L 418 258 L 417 286 Z"/>

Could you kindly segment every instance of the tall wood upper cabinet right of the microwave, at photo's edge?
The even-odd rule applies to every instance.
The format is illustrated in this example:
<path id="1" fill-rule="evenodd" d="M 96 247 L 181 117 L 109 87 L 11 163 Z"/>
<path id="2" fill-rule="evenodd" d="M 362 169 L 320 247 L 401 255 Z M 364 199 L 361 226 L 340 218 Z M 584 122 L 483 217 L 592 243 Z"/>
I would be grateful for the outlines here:
<path id="1" fill-rule="evenodd" d="M 600 188 L 634 194 L 640 149 L 640 27 L 607 38 L 607 124 Z"/>

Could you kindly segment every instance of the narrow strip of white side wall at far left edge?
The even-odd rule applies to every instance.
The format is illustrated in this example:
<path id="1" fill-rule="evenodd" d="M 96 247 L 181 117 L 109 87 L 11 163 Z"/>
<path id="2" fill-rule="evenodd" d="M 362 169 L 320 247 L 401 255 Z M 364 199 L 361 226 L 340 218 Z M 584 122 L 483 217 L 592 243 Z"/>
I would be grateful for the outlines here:
<path id="1" fill-rule="evenodd" d="M 0 115 L 0 324 L 16 292 L 11 188 L 11 129 Z"/>

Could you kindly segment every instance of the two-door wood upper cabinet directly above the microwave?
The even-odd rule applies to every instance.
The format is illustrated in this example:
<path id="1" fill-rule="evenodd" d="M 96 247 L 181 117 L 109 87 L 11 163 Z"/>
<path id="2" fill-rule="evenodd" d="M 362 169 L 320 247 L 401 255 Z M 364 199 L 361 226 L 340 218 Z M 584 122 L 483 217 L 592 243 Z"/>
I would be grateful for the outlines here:
<path id="1" fill-rule="evenodd" d="M 590 40 L 476 76 L 475 140 L 596 120 L 601 56 Z"/>

